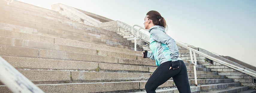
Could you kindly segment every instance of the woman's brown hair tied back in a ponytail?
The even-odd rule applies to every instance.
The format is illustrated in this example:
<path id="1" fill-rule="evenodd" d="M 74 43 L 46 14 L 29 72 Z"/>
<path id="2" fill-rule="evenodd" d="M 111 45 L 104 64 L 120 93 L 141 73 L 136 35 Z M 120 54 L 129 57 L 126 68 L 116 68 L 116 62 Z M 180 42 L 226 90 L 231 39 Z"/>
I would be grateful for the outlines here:
<path id="1" fill-rule="evenodd" d="M 150 20 L 153 20 L 153 24 L 154 24 L 154 25 L 163 26 L 163 27 L 165 28 L 165 31 L 164 31 L 164 32 L 166 33 L 166 31 L 167 31 L 167 29 L 168 29 L 168 26 L 167 26 L 167 24 L 166 24 L 166 22 L 165 22 L 165 19 L 160 15 L 159 12 L 154 11 L 154 10 L 151 10 L 151 11 L 149 11 L 149 12 L 147 13 L 147 15 L 149 15 L 148 18 L 149 18 Z"/>

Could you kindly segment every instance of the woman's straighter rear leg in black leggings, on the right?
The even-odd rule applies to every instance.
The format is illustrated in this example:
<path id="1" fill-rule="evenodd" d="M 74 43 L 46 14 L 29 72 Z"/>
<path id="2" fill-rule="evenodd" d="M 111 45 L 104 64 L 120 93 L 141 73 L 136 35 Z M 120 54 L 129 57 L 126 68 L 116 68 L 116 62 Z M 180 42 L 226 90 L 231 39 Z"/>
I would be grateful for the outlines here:
<path id="1" fill-rule="evenodd" d="M 179 67 L 181 68 L 181 71 L 177 75 L 174 75 L 172 77 L 173 81 L 180 93 L 191 93 L 188 76 L 187 76 L 187 67 L 182 60 L 178 60 L 178 61 L 182 63 L 181 67 Z"/>

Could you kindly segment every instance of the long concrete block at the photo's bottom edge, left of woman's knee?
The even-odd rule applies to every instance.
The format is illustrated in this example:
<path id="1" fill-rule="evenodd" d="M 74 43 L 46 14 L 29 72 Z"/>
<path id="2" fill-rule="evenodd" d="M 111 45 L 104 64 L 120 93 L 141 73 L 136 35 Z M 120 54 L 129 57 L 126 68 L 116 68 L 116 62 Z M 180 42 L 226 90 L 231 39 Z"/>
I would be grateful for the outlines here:
<path id="1" fill-rule="evenodd" d="M 38 85 L 45 93 L 95 93 L 139 89 L 139 82 L 104 82 Z"/>

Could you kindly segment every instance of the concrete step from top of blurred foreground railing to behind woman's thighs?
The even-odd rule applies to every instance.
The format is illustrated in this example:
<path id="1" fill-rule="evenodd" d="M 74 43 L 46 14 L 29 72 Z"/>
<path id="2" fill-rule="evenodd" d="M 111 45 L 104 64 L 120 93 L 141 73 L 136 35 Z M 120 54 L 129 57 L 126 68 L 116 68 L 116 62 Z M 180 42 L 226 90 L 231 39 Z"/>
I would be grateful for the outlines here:
<path id="1" fill-rule="evenodd" d="M 156 67 L 136 66 L 127 64 L 112 64 L 99 62 L 83 62 L 72 60 L 42 59 L 28 57 L 1 56 L 8 63 L 18 70 L 61 70 L 61 71 L 96 71 L 100 72 L 147 72 L 152 73 Z M 189 68 L 189 66 L 187 66 Z M 189 74 L 194 74 L 194 70 L 187 70 Z M 196 71 L 197 75 L 217 75 L 217 72 Z"/>

